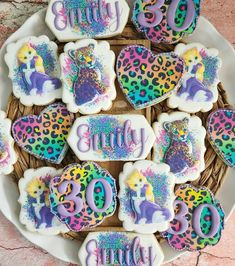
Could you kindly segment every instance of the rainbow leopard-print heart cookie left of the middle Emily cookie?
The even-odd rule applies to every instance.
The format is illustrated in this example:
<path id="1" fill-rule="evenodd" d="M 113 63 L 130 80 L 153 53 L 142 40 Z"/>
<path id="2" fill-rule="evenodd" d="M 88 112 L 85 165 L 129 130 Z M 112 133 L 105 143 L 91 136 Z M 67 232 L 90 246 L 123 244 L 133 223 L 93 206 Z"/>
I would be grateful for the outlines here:
<path id="1" fill-rule="evenodd" d="M 67 137 L 73 119 L 62 103 L 54 103 L 39 116 L 16 120 L 12 133 L 16 143 L 33 156 L 59 164 L 68 149 Z"/>

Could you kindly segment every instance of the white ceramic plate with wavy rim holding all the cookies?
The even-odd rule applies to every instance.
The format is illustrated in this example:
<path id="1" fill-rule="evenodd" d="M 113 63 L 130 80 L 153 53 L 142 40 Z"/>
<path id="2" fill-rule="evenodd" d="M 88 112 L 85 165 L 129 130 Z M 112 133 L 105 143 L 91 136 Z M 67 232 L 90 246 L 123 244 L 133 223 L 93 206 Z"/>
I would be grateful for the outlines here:
<path id="1" fill-rule="evenodd" d="M 29 35 L 39 36 L 44 34 L 52 40 L 55 39 L 53 34 L 47 28 L 44 19 L 45 10 L 36 13 L 30 17 L 19 30 L 12 34 L 2 46 L 0 51 L 0 109 L 2 110 L 6 108 L 8 97 L 12 91 L 11 81 L 8 78 L 8 69 L 4 62 L 6 45 Z M 220 56 L 223 60 L 223 68 L 220 72 L 220 78 L 229 94 L 230 103 L 235 106 L 235 52 L 233 47 L 216 31 L 213 25 L 203 17 L 199 19 L 198 28 L 195 33 L 186 41 L 201 42 L 205 46 L 215 47 L 220 51 Z M 234 188 L 235 171 L 229 170 L 225 182 L 217 195 L 224 207 L 227 218 L 235 204 Z M 0 176 L 0 195 L 0 209 L 2 213 L 17 227 L 25 238 L 61 260 L 76 264 L 78 263 L 78 242 L 64 239 L 60 236 L 48 237 L 39 235 L 38 233 L 31 233 L 19 223 L 19 204 L 17 201 L 19 192 L 16 184 L 9 176 Z M 183 252 L 177 252 L 170 248 L 166 242 L 161 246 L 165 254 L 165 262 L 171 261 L 183 254 Z"/>

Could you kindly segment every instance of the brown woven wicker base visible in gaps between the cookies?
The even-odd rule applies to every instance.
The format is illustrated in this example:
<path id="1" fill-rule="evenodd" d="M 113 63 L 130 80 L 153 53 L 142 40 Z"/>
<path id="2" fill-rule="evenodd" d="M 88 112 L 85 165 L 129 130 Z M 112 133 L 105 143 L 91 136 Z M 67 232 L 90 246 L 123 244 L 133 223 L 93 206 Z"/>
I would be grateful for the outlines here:
<path id="1" fill-rule="evenodd" d="M 124 46 L 133 45 L 133 44 L 144 45 L 147 48 L 151 48 L 154 53 L 169 52 L 174 50 L 174 45 L 165 45 L 165 44 L 151 45 L 151 43 L 148 40 L 145 40 L 140 33 L 135 31 L 134 27 L 131 24 L 128 24 L 126 26 L 122 35 L 113 38 L 112 40 L 108 40 L 108 42 L 110 43 L 111 49 L 114 50 L 116 55 Z M 59 45 L 59 52 L 63 52 L 63 45 L 60 43 L 58 43 L 58 45 Z M 139 111 L 133 110 L 130 104 L 125 100 L 117 82 L 116 82 L 116 88 L 118 96 L 117 99 L 114 101 L 112 109 L 106 112 L 108 114 L 123 114 L 123 113 L 144 114 L 149 123 L 152 123 L 156 121 L 159 113 L 175 111 L 167 107 L 166 101 L 163 101 L 162 103 L 152 108 L 147 108 Z M 216 110 L 218 108 L 230 107 L 227 101 L 226 92 L 223 89 L 222 84 L 218 85 L 218 91 L 219 91 L 219 98 L 218 101 L 214 104 L 213 110 Z M 122 101 L 122 103 L 125 103 L 124 105 L 122 104 L 122 108 L 118 107 L 118 104 L 115 104 L 115 102 L 117 103 L 118 101 L 119 102 Z M 12 121 L 15 121 L 17 118 L 21 116 L 29 114 L 38 115 L 44 108 L 45 106 L 25 107 L 20 103 L 20 101 L 16 97 L 12 95 L 9 98 L 8 102 L 7 116 Z M 202 123 L 205 127 L 209 112 L 208 113 L 199 112 L 196 113 L 196 115 L 202 119 Z M 76 114 L 75 116 L 79 116 L 79 114 Z M 213 148 L 210 146 L 208 142 L 208 139 L 206 139 L 206 147 L 207 147 L 207 151 L 205 153 L 206 168 L 201 173 L 200 178 L 192 182 L 192 184 L 195 186 L 206 186 L 211 191 L 216 193 L 223 183 L 227 171 L 227 166 L 223 163 L 223 161 L 221 161 L 220 157 L 214 152 Z M 71 150 L 68 151 L 65 159 L 60 165 L 53 165 L 46 161 L 41 161 L 39 159 L 36 159 L 35 157 L 24 152 L 17 145 L 15 145 L 15 149 L 16 152 L 18 153 L 18 158 L 19 158 L 14 166 L 14 172 L 13 172 L 13 177 L 16 182 L 18 182 L 18 180 L 23 176 L 24 171 L 28 168 L 38 168 L 42 166 L 53 166 L 56 168 L 62 168 L 69 163 L 79 162 L 79 160 Z M 148 156 L 148 159 L 150 158 L 151 154 Z M 102 167 L 105 167 L 107 170 L 109 170 L 110 173 L 116 178 L 116 180 L 118 180 L 118 175 L 122 170 L 124 163 L 105 162 L 99 164 Z M 100 231 L 100 230 L 123 231 L 122 224 L 117 218 L 117 211 L 118 208 L 112 217 L 107 218 L 100 226 L 95 227 L 90 231 Z M 84 240 L 88 232 L 89 231 L 86 230 L 79 233 L 69 232 L 67 234 L 64 234 L 64 237 L 69 237 L 71 239 L 77 239 L 77 240 Z M 156 234 L 156 237 L 161 241 L 159 235 Z"/>

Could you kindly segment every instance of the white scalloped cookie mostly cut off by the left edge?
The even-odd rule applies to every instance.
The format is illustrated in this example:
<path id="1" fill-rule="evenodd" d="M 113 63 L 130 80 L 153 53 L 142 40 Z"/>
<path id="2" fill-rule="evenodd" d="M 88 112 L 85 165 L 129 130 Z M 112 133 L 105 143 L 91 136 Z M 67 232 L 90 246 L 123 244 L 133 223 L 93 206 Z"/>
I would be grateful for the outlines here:
<path id="1" fill-rule="evenodd" d="M 11 120 L 0 111 L 0 174 L 8 175 L 13 171 L 17 161 L 14 140 L 11 136 Z"/>

